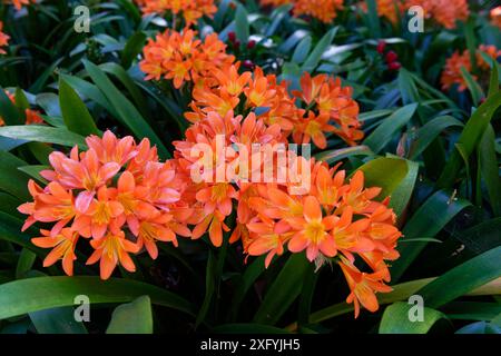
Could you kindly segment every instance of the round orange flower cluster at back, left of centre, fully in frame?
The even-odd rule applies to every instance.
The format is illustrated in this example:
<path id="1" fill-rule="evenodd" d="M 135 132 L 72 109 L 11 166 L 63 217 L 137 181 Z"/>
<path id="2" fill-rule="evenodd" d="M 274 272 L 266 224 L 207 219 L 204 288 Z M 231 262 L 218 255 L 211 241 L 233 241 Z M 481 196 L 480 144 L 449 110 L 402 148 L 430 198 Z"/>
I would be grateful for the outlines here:
<path id="1" fill-rule="evenodd" d="M 183 33 L 167 30 L 157 34 L 155 40 L 149 39 L 139 68 L 147 73 L 146 80 L 171 79 L 177 89 L 185 81 L 193 81 L 196 86 L 213 85 L 215 69 L 235 61 L 235 57 L 225 50 L 226 44 L 217 33 L 208 34 L 202 41 L 193 30 Z"/>

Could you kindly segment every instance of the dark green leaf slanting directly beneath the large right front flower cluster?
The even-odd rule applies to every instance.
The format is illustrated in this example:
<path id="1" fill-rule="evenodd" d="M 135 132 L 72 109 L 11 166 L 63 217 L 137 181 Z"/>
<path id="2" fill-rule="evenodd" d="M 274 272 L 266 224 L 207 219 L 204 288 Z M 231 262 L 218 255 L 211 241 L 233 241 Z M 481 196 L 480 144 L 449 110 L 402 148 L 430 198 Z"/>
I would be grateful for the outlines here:
<path id="1" fill-rule="evenodd" d="M 293 254 L 267 290 L 253 323 L 274 325 L 299 296 L 310 263 L 304 254 Z"/>

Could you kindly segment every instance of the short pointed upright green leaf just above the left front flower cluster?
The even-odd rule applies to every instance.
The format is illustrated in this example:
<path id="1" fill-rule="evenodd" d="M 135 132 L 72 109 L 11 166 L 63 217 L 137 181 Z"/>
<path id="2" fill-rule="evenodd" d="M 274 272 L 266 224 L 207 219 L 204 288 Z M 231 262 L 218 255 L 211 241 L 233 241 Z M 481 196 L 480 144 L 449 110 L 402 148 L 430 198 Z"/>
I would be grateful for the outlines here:
<path id="1" fill-rule="evenodd" d="M 59 107 L 68 130 L 82 136 L 99 135 L 86 105 L 63 79 L 59 80 Z"/>

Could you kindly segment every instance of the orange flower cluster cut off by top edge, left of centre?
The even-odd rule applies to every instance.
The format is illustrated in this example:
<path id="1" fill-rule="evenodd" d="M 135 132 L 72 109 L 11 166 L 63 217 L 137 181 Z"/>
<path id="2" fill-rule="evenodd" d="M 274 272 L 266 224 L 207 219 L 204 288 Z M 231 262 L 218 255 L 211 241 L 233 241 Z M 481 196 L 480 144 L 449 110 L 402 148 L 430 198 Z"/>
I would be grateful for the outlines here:
<path id="1" fill-rule="evenodd" d="M 213 17 L 217 11 L 214 0 L 136 0 L 143 13 L 164 14 L 169 11 L 173 14 L 181 13 L 185 26 L 189 27 L 203 16 Z"/>

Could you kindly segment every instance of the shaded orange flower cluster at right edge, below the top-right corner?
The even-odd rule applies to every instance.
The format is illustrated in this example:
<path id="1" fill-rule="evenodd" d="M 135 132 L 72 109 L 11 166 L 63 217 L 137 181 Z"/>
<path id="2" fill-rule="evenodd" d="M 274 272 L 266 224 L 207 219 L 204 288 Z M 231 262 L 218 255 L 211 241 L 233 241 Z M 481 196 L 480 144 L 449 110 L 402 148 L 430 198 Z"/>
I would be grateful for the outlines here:
<path id="1" fill-rule="evenodd" d="M 501 56 L 501 50 L 498 50 L 495 46 L 481 44 L 477 52 L 477 63 L 481 73 L 487 72 L 490 68 L 490 65 L 483 59 L 480 52 L 485 52 L 493 60 L 497 60 L 498 57 Z M 464 67 L 464 69 L 469 72 L 472 71 L 470 52 L 468 50 L 464 50 L 462 53 L 455 51 L 445 61 L 445 67 L 440 78 L 443 90 L 449 90 L 453 85 L 459 85 L 459 91 L 464 91 L 468 88 L 466 81 L 461 73 L 461 67 Z M 477 76 L 472 77 L 474 79 L 478 79 Z"/>

